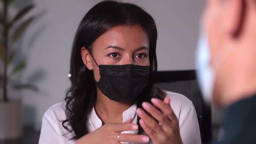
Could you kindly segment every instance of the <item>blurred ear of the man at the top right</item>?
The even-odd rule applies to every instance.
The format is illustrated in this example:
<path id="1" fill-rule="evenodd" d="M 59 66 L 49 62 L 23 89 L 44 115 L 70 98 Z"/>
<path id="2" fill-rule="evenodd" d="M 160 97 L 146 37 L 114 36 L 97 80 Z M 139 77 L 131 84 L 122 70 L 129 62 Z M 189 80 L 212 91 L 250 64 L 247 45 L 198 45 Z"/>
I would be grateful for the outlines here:
<path id="1" fill-rule="evenodd" d="M 245 0 L 225 0 L 223 10 L 223 29 L 231 36 L 238 36 L 243 28 Z"/>

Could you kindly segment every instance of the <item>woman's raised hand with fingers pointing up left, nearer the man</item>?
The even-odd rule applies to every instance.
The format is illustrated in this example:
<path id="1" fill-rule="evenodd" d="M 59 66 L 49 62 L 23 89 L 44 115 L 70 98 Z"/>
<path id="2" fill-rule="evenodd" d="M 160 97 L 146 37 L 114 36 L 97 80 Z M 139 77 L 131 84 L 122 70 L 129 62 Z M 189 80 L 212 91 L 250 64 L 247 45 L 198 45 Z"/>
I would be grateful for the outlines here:
<path id="1" fill-rule="evenodd" d="M 141 118 L 139 121 L 145 133 L 151 138 L 153 144 L 183 144 L 179 129 L 179 122 L 170 105 L 170 97 L 161 101 L 152 98 L 151 102 L 159 108 L 154 108 L 148 102 L 143 102 L 142 107 L 148 111 L 156 120 L 146 114 L 141 108 L 137 109 L 137 115 Z"/>

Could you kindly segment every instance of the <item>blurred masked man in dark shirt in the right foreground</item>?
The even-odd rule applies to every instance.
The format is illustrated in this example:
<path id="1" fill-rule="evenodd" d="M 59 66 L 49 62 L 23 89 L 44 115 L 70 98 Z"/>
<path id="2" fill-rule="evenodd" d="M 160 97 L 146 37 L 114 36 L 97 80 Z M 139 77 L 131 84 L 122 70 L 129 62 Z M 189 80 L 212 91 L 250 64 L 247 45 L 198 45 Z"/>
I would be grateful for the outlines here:
<path id="1" fill-rule="evenodd" d="M 256 144 L 256 0 L 207 0 L 202 22 L 197 75 L 225 108 L 220 144 Z"/>

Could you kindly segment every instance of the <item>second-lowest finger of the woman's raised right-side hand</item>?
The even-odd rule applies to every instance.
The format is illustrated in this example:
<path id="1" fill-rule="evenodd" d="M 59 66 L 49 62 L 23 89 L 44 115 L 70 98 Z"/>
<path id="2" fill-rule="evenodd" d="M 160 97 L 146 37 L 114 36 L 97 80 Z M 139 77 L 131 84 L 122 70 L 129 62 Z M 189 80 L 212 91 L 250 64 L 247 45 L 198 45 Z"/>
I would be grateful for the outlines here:
<path id="1" fill-rule="evenodd" d="M 156 109 L 153 105 L 151 105 L 148 102 L 143 102 L 142 107 L 148 111 L 155 119 L 158 120 L 158 122 L 161 123 L 161 125 L 164 126 L 169 126 L 169 120 L 166 118 L 163 112 L 159 111 Z"/>

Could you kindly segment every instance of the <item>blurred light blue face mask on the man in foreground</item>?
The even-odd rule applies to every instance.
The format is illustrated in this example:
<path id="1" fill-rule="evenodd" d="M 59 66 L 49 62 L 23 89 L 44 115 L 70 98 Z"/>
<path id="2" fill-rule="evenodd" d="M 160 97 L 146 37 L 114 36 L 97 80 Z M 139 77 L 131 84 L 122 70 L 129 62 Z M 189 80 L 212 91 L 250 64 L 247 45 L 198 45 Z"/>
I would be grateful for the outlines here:
<path id="1" fill-rule="evenodd" d="M 210 65 L 210 48 L 207 37 L 203 30 L 200 31 L 200 36 L 196 51 L 196 74 L 199 87 L 202 91 L 205 102 L 210 103 L 213 95 L 214 82 L 216 72 Z"/>

